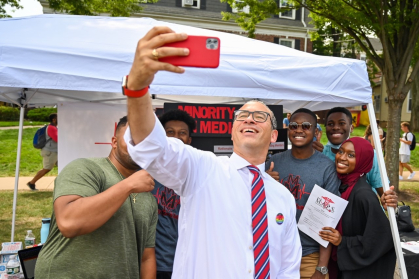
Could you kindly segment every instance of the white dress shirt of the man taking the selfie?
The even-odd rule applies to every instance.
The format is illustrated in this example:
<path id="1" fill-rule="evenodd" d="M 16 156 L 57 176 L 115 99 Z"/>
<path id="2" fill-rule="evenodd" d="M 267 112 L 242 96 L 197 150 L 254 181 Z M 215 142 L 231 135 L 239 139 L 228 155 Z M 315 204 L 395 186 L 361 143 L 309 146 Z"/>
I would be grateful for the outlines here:
<path id="1" fill-rule="evenodd" d="M 133 160 L 181 196 L 172 278 L 253 278 L 250 164 L 235 153 L 217 157 L 167 138 L 158 119 L 141 143 L 133 145 L 129 128 L 124 138 Z M 257 167 L 265 183 L 271 278 L 300 278 L 295 199 L 264 164 Z"/>

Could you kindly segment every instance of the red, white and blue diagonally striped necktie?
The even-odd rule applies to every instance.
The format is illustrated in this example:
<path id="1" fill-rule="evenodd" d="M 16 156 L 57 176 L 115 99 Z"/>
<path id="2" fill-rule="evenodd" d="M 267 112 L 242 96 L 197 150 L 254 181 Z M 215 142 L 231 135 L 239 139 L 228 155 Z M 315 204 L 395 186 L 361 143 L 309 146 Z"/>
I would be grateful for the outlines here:
<path id="1" fill-rule="evenodd" d="M 266 210 L 265 187 L 257 167 L 247 167 L 253 174 L 252 181 L 252 226 L 255 279 L 270 278 L 268 213 Z"/>

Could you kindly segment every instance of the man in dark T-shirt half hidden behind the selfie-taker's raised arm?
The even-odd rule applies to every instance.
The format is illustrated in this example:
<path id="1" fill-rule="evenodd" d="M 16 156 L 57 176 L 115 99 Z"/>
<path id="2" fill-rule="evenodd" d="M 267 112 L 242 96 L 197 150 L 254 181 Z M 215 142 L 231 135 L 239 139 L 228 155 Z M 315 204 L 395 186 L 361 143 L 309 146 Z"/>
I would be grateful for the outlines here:
<path id="1" fill-rule="evenodd" d="M 170 110 L 161 115 L 159 120 L 167 137 L 191 144 L 196 123 L 187 112 Z M 157 180 L 155 182 L 156 186 L 151 193 L 157 199 L 159 214 L 156 231 L 157 279 L 170 279 L 178 240 L 180 197 L 172 189 L 166 188 Z"/>

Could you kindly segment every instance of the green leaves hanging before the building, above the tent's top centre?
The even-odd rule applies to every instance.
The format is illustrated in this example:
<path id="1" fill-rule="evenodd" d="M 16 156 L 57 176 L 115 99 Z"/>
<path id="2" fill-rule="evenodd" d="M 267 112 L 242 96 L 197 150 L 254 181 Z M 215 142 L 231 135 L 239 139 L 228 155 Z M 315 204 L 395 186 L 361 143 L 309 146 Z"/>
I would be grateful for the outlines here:
<path id="1" fill-rule="evenodd" d="M 230 7 L 237 8 L 238 13 L 221 12 L 223 20 L 234 20 L 243 30 L 248 32 L 249 38 L 255 37 L 256 25 L 280 12 L 291 10 L 290 7 L 279 8 L 276 0 L 220 0 L 221 3 L 228 3 Z M 246 13 L 243 8 L 248 6 L 250 12 Z"/>

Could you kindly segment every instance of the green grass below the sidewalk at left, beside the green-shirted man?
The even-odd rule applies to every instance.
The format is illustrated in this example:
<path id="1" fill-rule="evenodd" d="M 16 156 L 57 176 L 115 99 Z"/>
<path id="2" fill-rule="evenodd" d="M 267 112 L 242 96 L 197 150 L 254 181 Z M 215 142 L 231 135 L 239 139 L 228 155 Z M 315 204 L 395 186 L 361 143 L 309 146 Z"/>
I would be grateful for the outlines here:
<path id="1" fill-rule="evenodd" d="M 20 191 L 17 197 L 15 241 L 24 241 L 27 230 L 32 230 L 39 243 L 42 218 L 50 218 L 51 191 Z M 13 191 L 0 191 L 0 243 L 9 242 L 12 231 Z"/>

